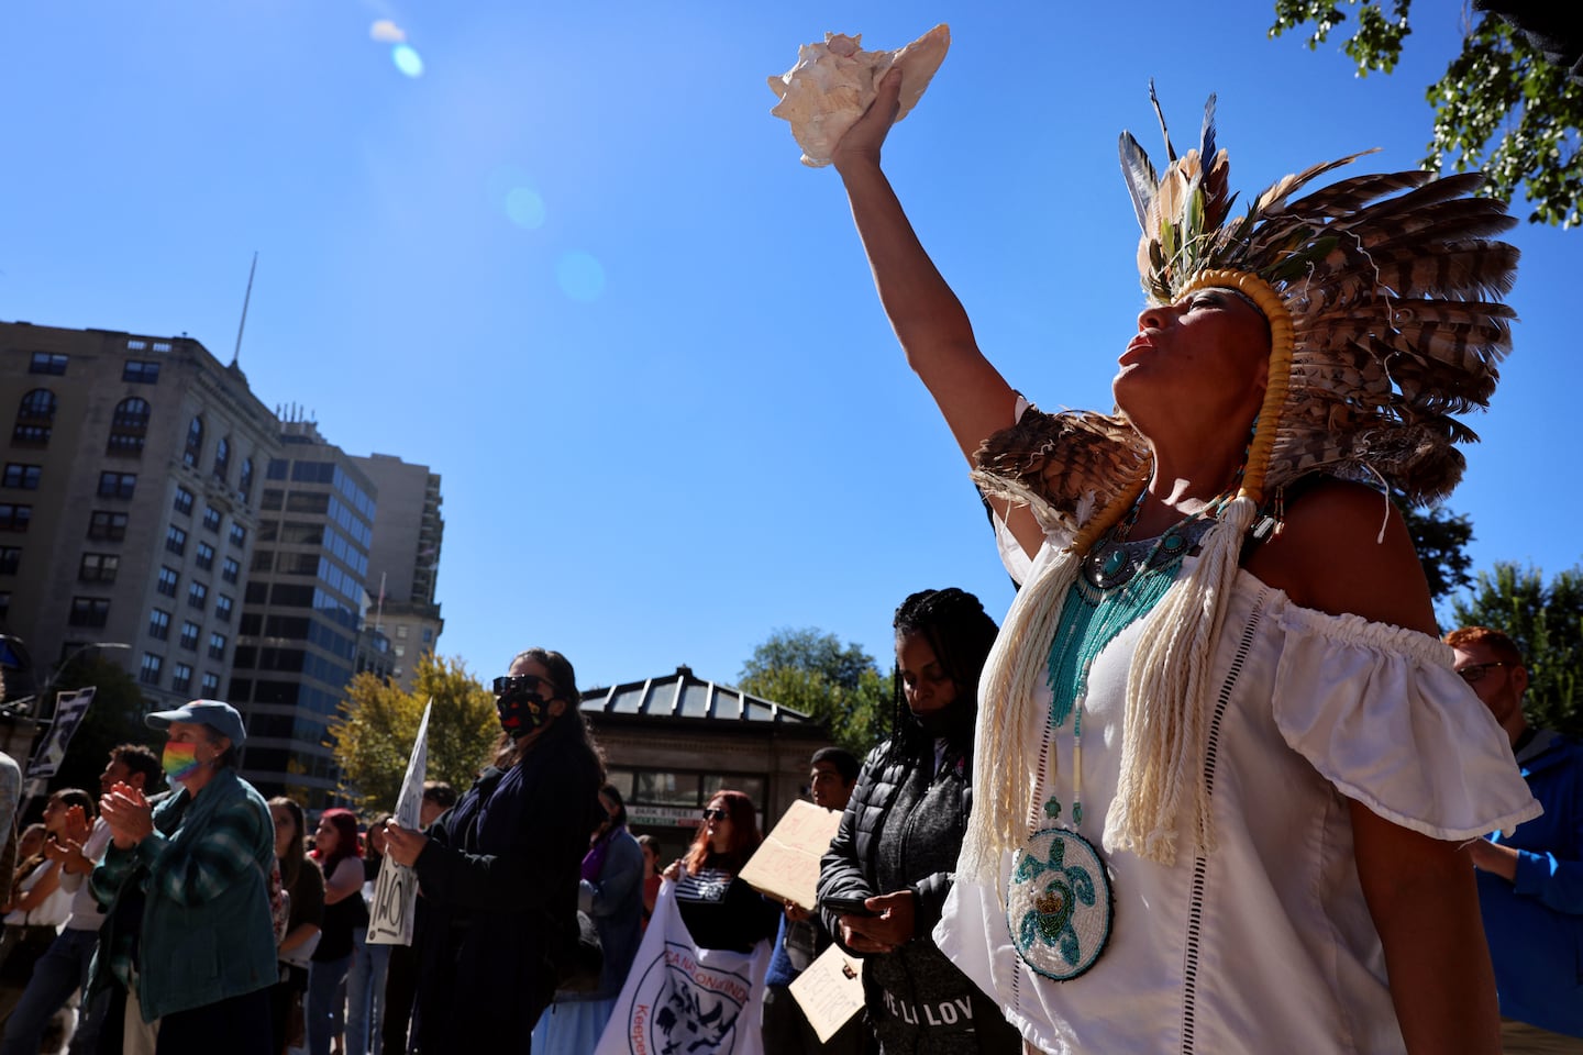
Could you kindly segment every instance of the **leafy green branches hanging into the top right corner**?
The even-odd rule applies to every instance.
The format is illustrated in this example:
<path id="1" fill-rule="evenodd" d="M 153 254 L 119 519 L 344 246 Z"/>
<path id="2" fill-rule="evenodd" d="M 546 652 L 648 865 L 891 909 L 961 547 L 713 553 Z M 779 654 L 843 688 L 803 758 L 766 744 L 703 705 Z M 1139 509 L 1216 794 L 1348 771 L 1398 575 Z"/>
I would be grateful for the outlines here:
<path id="1" fill-rule="evenodd" d="M 1479 6 L 1498 6 L 1480 3 Z M 1562 2 L 1556 0 L 1561 8 Z M 1388 8 L 1388 11 L 1387 11 Z M 1331 30 L 1353 14 L 1353 30 L 1342 51 L 1357 63 L 1358 76 L 1390 73 L 1401 59 L 1403 41 L 1412 32 L 1412 0 L 1276 0 L 1270 36 L 1308 32 L 1308 47 L 1317 49 Z M 1583 223 L 1583 82 L 1551 62 L 1529 33 L 1488 13 L 1448 13 L 1461 17 L 1463 49 L 1453 55 L 1439 81 L 1425 90 L 1434 111 L 1434 131 L 1423 168 L 1441 171 L 1450 163 L 1458 172 L 1483 169 L 1490 193 L 1513 201 L 1518 190 L 1534 207 L 1534 223 L 1574 226 Z M 1308 27 L 1312 27 L 1311 30 Z M 1575 59 L 1575 55 L 1574 55 Z"/>

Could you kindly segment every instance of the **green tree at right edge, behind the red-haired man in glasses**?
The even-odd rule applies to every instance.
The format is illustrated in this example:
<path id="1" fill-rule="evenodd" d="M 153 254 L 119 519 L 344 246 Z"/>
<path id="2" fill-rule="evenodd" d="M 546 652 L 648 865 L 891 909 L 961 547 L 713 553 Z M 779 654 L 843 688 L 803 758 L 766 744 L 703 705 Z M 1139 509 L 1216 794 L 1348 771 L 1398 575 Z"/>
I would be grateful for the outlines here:
<path id="1" fill-rule="evenodd" d="M 1458 626 L 1494 626 L 1517 642 L 1529 675 L 1523 710 L 1532 724 L 1583 735 L 1583 568 L 1545 582 L 1539 568 L 1496 562 L 1452 611 Z"/>

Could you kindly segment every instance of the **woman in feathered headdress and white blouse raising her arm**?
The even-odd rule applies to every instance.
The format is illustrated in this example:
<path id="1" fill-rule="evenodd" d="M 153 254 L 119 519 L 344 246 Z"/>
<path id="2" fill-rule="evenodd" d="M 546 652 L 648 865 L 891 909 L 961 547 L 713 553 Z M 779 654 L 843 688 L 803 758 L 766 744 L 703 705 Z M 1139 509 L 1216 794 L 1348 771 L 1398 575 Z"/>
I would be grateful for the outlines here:
<path id="1" fill-rule="evenodd" d="M 1148 304 L 1119 410 L 1050 416 L 880 169 L 899 87 L 834 164 L 1021 584 L 940 947 L 1045 1052 L 1498 1050 L 1460 845 L 1536 805 L 1384 492 L 1461 473 L 1510 340 L 1502 206 L 1423 172 L 1292 199 L 1346 158 L 1236 217 L 1213 100 L 1164 174 L 1122 136 Z"/>

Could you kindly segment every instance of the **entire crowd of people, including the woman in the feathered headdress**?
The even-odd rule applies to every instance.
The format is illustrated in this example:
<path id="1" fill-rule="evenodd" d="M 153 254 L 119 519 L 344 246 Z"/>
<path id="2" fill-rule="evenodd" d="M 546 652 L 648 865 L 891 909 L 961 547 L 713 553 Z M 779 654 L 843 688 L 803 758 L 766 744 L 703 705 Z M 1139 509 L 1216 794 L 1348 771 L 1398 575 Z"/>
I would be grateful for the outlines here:
<path id="1" fill-rule="evenodd" d="M 494 680 L 473 785 L 405 819 L 264 800 L 198 699 L 16 834 L 0 1055 L 1580 1050 L 1583 745 L 1526 721 L 1510 637 L 1441 637 L 1363 482 L 1455 484 L 1452 414 L 1509 345 L 1504 207 L 1306 188 L 1347 158 L 1238 223 L 1213 109 L 1164 174 L 1126 136 L 1118 411 L 1045 414 L 880 166 L 901 93 L 829 160 L 1018 595 L 894 609 L 882 742 L 807 759 L 807 894 L 755 872 L 776 818 L 735 788 L 685 848 L 635 837 L 554 650 Z M 5 818 L 17 786 L 0 758 Z"/>

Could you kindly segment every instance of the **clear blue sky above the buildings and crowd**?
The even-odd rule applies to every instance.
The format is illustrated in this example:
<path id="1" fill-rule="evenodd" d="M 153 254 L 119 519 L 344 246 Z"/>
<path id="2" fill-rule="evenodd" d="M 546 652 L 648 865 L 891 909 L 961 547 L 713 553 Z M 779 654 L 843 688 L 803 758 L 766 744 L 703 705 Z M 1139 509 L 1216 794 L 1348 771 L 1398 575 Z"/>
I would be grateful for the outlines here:
<path id="1" fill-rule="evenodd" d="M 1339 40 L 1266 40 L 1268 0 L 11 5 L 0 318 L 228 361 L 258 250 L 255 392 L 443 476 L 440 650 L 481 675 L 541 644 L 584 685 L 731 682 L 782 626 L 883 660 L 909 592 L 997 618 L 1012 593 L 766 76 L 826 30 L 948 22 L 886 168 L 1007 378 L 1107 408 L 1140 307 L 1116 134 L 1159 157 L 1148 79 L 1179 142 L 1219 93 L 1244 195 L 1372 146 L 1353 171 L 1410 168 L 1461 21 L 1420 6 L 1398 71 L 1358 79 Z M 1510 240 L 1523 321 L 1450 506 L 1479 568 L 1555 573 L 1580 555 L 1583 233 Z"/>

